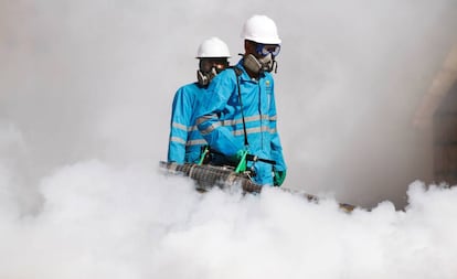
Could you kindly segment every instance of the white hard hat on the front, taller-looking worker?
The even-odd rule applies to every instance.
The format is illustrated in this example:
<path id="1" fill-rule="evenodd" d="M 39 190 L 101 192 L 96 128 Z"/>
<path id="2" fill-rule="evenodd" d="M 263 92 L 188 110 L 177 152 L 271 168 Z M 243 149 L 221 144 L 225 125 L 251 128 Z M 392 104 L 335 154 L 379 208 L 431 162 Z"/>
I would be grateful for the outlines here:
<path id="1" fill-rule="evenodd" d="M 280 44 L 275 22 L 266 15 L 253 15 L 243 25 L 244 40 L 262 44 Z"/>

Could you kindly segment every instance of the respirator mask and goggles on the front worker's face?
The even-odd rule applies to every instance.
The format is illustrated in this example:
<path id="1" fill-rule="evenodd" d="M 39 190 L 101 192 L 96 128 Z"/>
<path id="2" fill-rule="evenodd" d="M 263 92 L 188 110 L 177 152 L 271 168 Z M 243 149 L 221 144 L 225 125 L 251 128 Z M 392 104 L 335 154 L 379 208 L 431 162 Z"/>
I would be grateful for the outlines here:
<path id="1" fill-rule="evenodd" d="M 277 62 L 275 61 L 276 55 L 279 54 L 280 45 L 278 44 L 259 44 L 256 45 L 256 52 L 261 57 L 256 57 L 253 54 L 244 56 L 244 67 L 248 71 L 261 74 L 264 72 L 277 72 Z"/>

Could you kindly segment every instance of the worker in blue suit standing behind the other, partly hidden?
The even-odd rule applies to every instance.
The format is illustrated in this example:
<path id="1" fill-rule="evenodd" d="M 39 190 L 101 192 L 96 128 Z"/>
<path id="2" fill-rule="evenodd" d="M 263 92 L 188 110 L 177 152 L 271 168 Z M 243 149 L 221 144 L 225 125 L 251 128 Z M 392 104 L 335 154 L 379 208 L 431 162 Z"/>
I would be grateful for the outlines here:
<path id="1" fill-rule="evenodd" d="M 206 141 L 195 126 L 196 99 L 208 89 L 210 82 L 228 66 L 230 52 L 227 45 L 219 37 L 203 41 L 198 51 L 198 82 L 178 89 L 174 95 L 168 161 L 177 163 L 195 163 L 200 159 L 202 147 Z"/>

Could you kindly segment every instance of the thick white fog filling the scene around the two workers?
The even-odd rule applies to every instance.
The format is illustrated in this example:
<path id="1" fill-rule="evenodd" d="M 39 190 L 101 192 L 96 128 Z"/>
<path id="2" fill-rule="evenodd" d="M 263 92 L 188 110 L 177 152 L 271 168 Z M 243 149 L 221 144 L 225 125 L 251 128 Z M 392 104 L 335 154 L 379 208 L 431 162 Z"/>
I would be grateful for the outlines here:
<path id="1" fill-rule="evenodd" d="M 198 45 L 235 64 L 256 13 L 284 186 L 319 204 L 158 170 Z M 456 278 L 457 190 L 412 125 L 456 28 L 454 0 L 0 0 L 0 278 Z"/>

